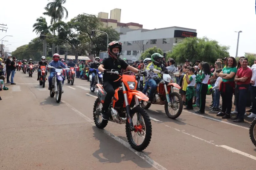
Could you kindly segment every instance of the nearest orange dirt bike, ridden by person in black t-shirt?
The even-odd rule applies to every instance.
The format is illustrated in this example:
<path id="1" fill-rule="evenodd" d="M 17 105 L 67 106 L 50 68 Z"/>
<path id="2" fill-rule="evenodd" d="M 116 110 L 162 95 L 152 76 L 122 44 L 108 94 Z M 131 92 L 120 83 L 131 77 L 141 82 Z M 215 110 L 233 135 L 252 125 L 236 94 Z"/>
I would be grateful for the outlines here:
<path id="1" fill-rule="evenodd" d="M 128 71 L 131 72 L 131 71 Z M 144 150 L 150 143 L 152 126 L 147 112 L 139 106 L 139 100 L 147 101 L 148 97 L 142 92 L 135 90 L 138 82 L 135 75 L 126 75 L 117 70 L 105 73 L 117 74 L 121 81 L 120 87 L 115 89 L 115 94 L 108 109 L 109 120 L 102 119 L 101 108 L 104 103 L 106 92 L 101 84 L 97 84 L 98 98 L 94 102 L 93 118 L 98 128 L 105 128 L 108 121 L 118 124 L 126 124 L 126 136 L 129 144 L 135 150 Z M 125 72 L 127 73 L 127 72 Z"/>

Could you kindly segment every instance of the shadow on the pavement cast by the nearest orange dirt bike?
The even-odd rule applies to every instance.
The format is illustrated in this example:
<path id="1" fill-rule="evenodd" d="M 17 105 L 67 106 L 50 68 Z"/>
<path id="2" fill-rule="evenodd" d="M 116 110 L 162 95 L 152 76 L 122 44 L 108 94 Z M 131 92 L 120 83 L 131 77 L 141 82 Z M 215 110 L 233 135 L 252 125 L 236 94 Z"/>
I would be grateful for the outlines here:
<path id="1" fill-rule="evenodd" d="M 132 161 L 141 168 L 151 168 L 143 159 L 128 150 L 121 143 L 112 139 L 105 134 L 103 130 L 93 126 L 94 138 L 100 142 L 98 150 L 93 153 L 93 156 L 101 163 L 121 163 L 122 161 Z M 100 156 L 102 155 L 102 156 Z M 128 167 L 127 167 L 128 168 Z"/>

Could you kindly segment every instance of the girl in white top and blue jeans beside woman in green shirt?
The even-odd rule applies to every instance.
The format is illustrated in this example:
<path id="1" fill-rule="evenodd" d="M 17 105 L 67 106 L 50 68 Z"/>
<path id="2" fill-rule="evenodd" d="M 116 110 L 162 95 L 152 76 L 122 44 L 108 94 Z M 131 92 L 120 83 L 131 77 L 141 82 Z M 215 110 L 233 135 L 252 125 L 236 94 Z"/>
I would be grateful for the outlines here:
<path id="1" fill-rule="evenodd" d="M 214 98 L 213 98 L 213 108 L 212 108 L 212 112 L 219 112 L 219 105 L 220 105 L 220 83 L 222 81 L 222 78 L 219 77 L 220 72 L 222 71 L 222 69 L 218 69 L 216 70 L 216 77 L 217 80 L 215 82 L 214 87 L 212 88 L 212 90 L 214 90 Z"/>

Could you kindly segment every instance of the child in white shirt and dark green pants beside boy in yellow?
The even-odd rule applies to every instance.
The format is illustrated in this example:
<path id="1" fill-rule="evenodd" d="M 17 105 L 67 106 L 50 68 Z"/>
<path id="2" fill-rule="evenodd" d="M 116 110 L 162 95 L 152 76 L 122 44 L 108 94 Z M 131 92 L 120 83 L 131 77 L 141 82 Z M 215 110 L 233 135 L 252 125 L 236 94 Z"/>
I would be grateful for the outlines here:
<path id="1" fill-rule="evenodd" d="M 187 99 L 187 107 L 184 109 L 186 110 L 193 110 L 193 97 L 196 96 L 196 91 L 195 91 L 195 85 L 196 85 L 196 75 L 195 75 L 195 68 L 191 67 L 189 68 L 188 73 L 184 76 L 185 81 L 187 82 L 187 90 L 186 90 L 186 99 Z M 190 75 L 190 76 L 189 76 Z"/>

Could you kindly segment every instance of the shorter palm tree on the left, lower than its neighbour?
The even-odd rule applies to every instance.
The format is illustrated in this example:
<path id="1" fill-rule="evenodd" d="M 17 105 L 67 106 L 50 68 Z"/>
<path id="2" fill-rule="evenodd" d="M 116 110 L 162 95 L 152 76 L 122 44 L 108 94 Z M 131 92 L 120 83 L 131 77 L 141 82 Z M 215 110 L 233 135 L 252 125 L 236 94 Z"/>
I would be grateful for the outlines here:
<path id="1" fill-rule="evenodd" d="M 36 34 L 50 34 L 50 26 L 47 25 L 46 19 L 42 16 L 36 19 L 36 23 L 33 24 L 33 32 L 36 31 Z M 46 44 L 46 38 L 44 38 L 44 45 L 43 45 L 43 55 L 47 56 L 47 44 Z"/>

